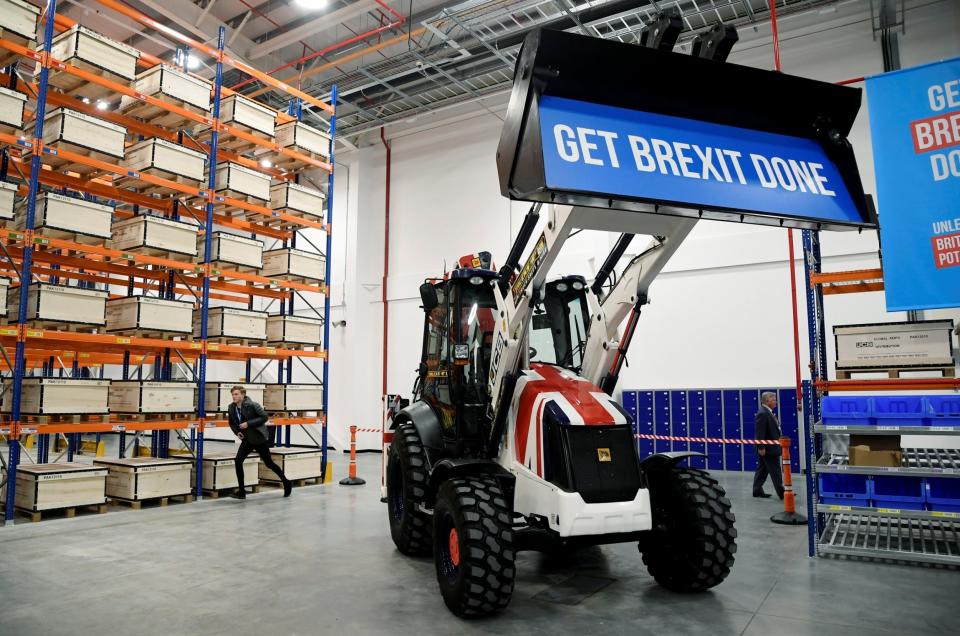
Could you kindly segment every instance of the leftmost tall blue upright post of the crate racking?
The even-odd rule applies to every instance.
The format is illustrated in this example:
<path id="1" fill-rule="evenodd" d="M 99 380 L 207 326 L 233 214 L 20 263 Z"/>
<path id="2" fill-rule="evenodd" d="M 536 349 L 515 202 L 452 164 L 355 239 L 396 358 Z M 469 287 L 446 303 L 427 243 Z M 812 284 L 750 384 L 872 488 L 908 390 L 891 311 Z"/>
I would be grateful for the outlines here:
<path id="1" fill-rule="evenodd" d="M 50 45 L 53 41 L 53 22 L 57 13 L 57 0 L 50 0 L 47 4 L 47 23 L 43 30 L 43 50 L 50 54 Z M 50 79 L 50 69 L 46 65 L 40 67 L 40 82 L 37 87 L 37 108 L 34 113 L 36 123 L 33 126 L 34 141 L 43 139 L 43 118 L 47 113 L 47 83 Z M 27 190 L 27 218 L 26 230 L 33 232 L 34 220 L 37 212 L 37 193 L 40 189 L 40 153 L 34 148 L 30 156 L 30 185 Z M 30 289 L 30 280 L 33 271 L 33 241 L 24 241 L 23 262 L 20 265 L 20 306 L 17 312 L 17 324 L 22 325 L 27 320 L 27 298 Z M 13 421 L 14 431 L 7 442 L 9 455 L 7 460 L 7 506 L 6 521 L 13 520 L 13 502 L 17 494 L 17 466 L 20 464 L 20 399 L 23 394 L 23 375 L 26 371 L 26 341 L 23 332 L 17 336 L 17 348 L 13 363 L 13 404 L 10 409 L 10 419 Z"/>

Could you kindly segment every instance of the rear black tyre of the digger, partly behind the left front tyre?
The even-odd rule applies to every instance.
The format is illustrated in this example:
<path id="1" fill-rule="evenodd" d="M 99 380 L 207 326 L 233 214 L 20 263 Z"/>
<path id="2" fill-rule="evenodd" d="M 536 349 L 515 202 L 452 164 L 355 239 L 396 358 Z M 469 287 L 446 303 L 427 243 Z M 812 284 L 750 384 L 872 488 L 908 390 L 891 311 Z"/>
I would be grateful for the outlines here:
<path id="1" fill-rule="evenodd" d="M 409 556 L 430 554 L 430 518 L 419 506 L 427 495 L 427 454 L 410 422 L 400 424 L 387 456 L 387 511 L 390 536 Z"/>

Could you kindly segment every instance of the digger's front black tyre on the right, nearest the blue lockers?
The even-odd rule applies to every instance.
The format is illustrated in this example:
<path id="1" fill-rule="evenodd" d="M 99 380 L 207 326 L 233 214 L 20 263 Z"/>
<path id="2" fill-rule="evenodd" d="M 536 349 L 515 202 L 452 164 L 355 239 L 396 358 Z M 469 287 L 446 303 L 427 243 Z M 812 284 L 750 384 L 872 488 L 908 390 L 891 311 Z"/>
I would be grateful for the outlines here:
<path id="1" fill-rule="evenodd" d="M 693 593 L 719 585 L 737 551 L 736 517 L 726 492 L 705 470 L 674 467 L 650 475 L 653 529 L 640 540 L 657 583 Z"/>

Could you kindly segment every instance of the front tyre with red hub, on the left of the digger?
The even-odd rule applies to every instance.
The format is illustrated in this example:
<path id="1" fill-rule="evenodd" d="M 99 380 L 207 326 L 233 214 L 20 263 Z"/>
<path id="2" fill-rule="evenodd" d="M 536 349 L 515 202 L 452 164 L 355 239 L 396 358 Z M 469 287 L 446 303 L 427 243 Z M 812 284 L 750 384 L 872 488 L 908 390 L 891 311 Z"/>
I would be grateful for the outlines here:
<path id="1" fill-rule="evenodd" d="M 433 511 L 433 559 L 440 593 L 464 618 L 504 609 L 515 575 L 513 513 L 496 479 L 450 479 Z"/>

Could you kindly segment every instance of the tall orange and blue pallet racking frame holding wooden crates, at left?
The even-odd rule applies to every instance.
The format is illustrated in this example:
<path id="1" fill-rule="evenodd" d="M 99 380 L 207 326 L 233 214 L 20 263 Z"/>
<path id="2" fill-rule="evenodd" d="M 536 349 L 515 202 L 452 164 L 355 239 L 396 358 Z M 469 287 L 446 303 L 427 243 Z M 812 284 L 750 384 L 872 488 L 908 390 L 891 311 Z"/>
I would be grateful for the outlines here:
<path id="1" fill-rule="evenodd" d="M 207 416 L 205 389 L 207 362 L 210 360 L 245 363 L 245 377 L 248 381 L 257 379 L 252 375 L 253 361 L 265 363 L 260 370 L 261 374 L 270 364 L 276 362 L 278 382 L 292 382 L 294 360 L 320 360 L 322 376 L 317 379 L 322 385 L 323 409 L 316 416 L 300 413 L 297 416 L 271 419 L 271 422 L 276 425 L 275 441 L 286 446 L 291 443 L 292 426 L 319 424 L 321 439 L 315 441 L 320 447 L 318 450 L 322 452 L 324 472 L 327 466 L 329 360 L 326 348 L 330 329 L 326 317 L 330 312 L 328 285 L 329 256 L 332 248 L 336 87 L 333 88 L 331 102 L 322 102 L 225 53 L 223 28 L 219 30 L 217 46 L 211 47 L 152 20 L 121 2 L 96 1 L 107 10 L 159 32 L 178 46 L 182 45 L 188 50 L 212 58 L 215 61 L 215 75 L 211 82 L 212 112 L 198 112 L 197 108 L 189 104 L 164 99 L 163 94 L 159 97 L 145 95 L 134 88 L 133 82 L 120 81 L 120 78 L 109 73 L 98 73 L 96 68 L 87 64 L 71 64 L 56 59 L 51 54 L 55 34 L 76 26 L 72 20 L 56 13 L 56 0 L 47 0 L 45 11 L 40 16 L 38 31 L 42 30 L 42 37 L 37 41 L 42 45 L 36 49 L 32 47 L 31 41 L 13 38 L 0 31 L 0 53 L 6 54 L 4 59 L 9 56 L 13 60 L 6 72 L 0 73 L 0 84 L 27 95 L 28 109 L 33 110 L 35 121 L 32 136 L 25 130 L 8 132 L 9 129 L 0 129 L 0 148 L 3 150 L 0 182 L 12 181 L 14 177 L 18 177 L 15 181 L 16 194 L 26 199 L 24 228 L 0 229 L 0 274 L 12 277 L 15 283 L 28 282 L 10 288 L 11 294 L 20 295 L 19 314 L 16 316 L 16 324 L 0 327 L 0 353 L 3 355 L 0 368 L 12 372 L 13 376 L 10 385 L 12 406 L 9 420 L 0 422 L 0 434 L 6 437 L 9 448 L 5 466 L 6 520 L 12 519 L 14 515 L 16 471 L 20 464 L 23 437 L 30 434 L 37 436 L 37 461 L 44 463 L 49 461 L 51 435 L 67 438 L 67 461 L 72 461 L 83 433 L 97 434 L 98 441 L 102 433 L 119 433 L 120 455 L 123 457 L 127 433 L 137 435 L 134 443 L 136 448 L 139 434 L 153 431 L 151 454 L 154 457 L 165 457 L 169 451 L 170 431 L 176 431 L 178 437 L 184 440 L 182 431 L 189 430 L 188 445 L 195 456 L 194 491 L 198 498 L 202 497 L 204 431 L 227 425 L 226 420 Z M 178 50 L 178 57 L 186 58 L 181 50 Z M 32 60 L 35 63 L 37 73 L 34 81 L 18 73 L 17 60 Z M 138 70 L 156 67 L 162 63 L 159 58 L 145 53 L 139 53 L 137 59 Z M 220 121 L 222 100 L 234 95 L 233 91 L 223 86 L 224 64 L 246 73 L 267 90 L 279 91 L 290 97 L 288 112 L 277 114 L 278 124 L 298 121 L 303 104 L 329 117 L 327 156 L 281 146 L 266 135 L 254 134 L 255 131 Z M 69 81 L 51 82 L 53 78 L 67 78 Z M 70 88 L 61 92 L 54 88 L 55 85 Z M 120 97 L 127 108 L 123 109 L 125 112 L 120 112 L 120 108 L 104 109 L 102 102 L 94 103 L 91 99 L 80 96 L 80 93 L 103 96 L 99 99 Z M 129 108 L 131 100 L 141 103 L 144 108 Z M 195 185 L 170 175 L 161 176 L 132 170 L 125 167 L 123 161 L 105 160 L 103 155 L 85 152 L 73 146 L 47 145 L 44 143 L 44 119 L 48 106 L 67 108 L 122 126 L 126 130 L 128 146 L 142 139 L 156 138 L 200 150 L 207 159 L 206 183 Z M 150 108 L 146 108 L 147 106 Z M 131 111 L 143 117 L 136 118 L 130 114 Z M 192 127 L 196 134 L 185 134 L 183 129 L 172 128 L 170 121 L 178 122 L 178 127 L 181 123 L 184 128 Z M 231 142 L 226 145 L 232 150 L 221 148 L 221 140 Z M 274 183 L 300 183 L 301 174 L 306 170 L 324 172 L 325 218 L 318 220 L 320 211 L 316 211 L 317 214 L 314 215 L 292 214 L 287 210 L 272 209 L 268 207 L 269 203 L 238 197 L 234 192 L 218 192 L 217 166 L 223 162 L 265 173 Z M 277 167 L 281 164 L 283 169 Z M 189 220 L 198 230 L 198 241 L 201 245 L 199 262 L 171 258 L 171 255 L 118 250 L 111 248 L 109 244 L 90 244 L 45 235 L 35 229 L 37 197 L 42 192 L 41 187 L 59 193 L 81 195 L 88 201 L 110 202 L 115 205 L 114 220 L 131 218 L 142 211 L 169 219 Z M 227 228 L 254 238 L 279 241 L 283 247 L 298 247 L 299 239 L 301 243 L 306 243 L 324 256 L 324 279 L 321 282 L 298 282 L 262 276 L 251 272 L 250 268 L 241 271 L 240 268 L 214 265 L 211 262 L 211 236 L 215 228 Z M 308 229 L 319 230 L 325 234 L 322 249 L 303 234 L 303 231 Z M 135 291 L 139 291 L 140 294 L 153 294 L 153 297 L 159 298 L 190 299 L 200 315 L 199 337 L 191 338 L 188 334 L 180 339 L 169 339 L 154 334 L 117 335 L 104 333 L 103 330 L 87 333 L 29 324 L 25 318 L 29 283 L 61 280 L 76 281 L 78 287 L 93 288 L 100 285 L 108 291 L 123 288 L 126 289 L 126 296 L 133 296 Z M 314 308 L 305 296 L 308 293 L 322 294 L 322 310 Z M 305 350 L 303 347 L 282 348 L 268 344 L 226 344 L 208 339 L 207 318 L 211 299 L 241 303 L 252 308 L 254 299 L 257 298 L 271 303 L 279 302 L 281 315 L 293 315 L 294 299 L 300 298 L 306 307 L 323 320 L 323 346 Z M 11 348 L 14 350 L 12 356 L 8 354 Z M 44 419 L 30 421 L 21 413 L 23 379 L 28 371 L 37 367 L 40 367 L 46 376 L 54 375 L 58 371 L 62 375 L 69 370 L 74 377 L 89 377 L 96 372 L 103 377 L 105 366 L 118 365 L 122 367 L 122 378 L 131 379 L 134 369 L 137 370 L 136 375 L 142 377 L 145 364 L 153 367 L 154 379 L 158 380 L 171 379 L 174 367 L 189 372 L 189 377 L 197 388 L 196 412 L 192 417 L 141 421 L 137 418 L 112 415 L 96 421 L 78 418 L 79 421 L 61 422 Z M 304 367 L 316 377 L 305 363 Z"/>

